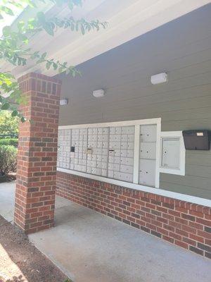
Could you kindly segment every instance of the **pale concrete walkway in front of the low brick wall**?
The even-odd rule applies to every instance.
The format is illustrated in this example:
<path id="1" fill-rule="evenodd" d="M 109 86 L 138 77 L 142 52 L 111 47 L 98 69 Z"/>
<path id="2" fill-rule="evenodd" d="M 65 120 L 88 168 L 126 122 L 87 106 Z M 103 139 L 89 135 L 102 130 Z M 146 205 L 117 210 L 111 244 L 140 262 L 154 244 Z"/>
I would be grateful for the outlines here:
<path id="1" fill-rule="evenodd" d="M 0 185 L 0 213 L 11 190 Z M 211 281 L 209 259 L 60 197 L 56 226 L 30 240 L 74 282 Z"/>

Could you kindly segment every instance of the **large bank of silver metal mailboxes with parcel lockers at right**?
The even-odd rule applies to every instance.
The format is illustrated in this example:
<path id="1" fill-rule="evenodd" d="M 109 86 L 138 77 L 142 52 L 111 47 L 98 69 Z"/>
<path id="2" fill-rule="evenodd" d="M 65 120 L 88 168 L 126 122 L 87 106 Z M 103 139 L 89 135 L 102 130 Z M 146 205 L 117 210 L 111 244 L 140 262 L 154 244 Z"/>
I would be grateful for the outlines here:
<path id="1" fill-rule="evenodd" d="M 60 127 L 58 168 L 157 186 L 156 152 L 160 144 L 160 123 L 157 119 L 154 123 L 145 123 L 134 121 L 133 124 L 131 121 Z"/>

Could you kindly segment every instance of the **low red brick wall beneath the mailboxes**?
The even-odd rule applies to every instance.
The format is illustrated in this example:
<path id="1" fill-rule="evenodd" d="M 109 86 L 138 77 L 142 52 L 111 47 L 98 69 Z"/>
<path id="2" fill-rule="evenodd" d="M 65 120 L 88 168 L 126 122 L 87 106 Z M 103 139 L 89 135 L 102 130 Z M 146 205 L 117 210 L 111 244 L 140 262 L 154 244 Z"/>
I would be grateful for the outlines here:
<path id="1" fill-rule="evenodd" d="M 57 172 L 56 194 L 211 258 L 211 208 Z"/>

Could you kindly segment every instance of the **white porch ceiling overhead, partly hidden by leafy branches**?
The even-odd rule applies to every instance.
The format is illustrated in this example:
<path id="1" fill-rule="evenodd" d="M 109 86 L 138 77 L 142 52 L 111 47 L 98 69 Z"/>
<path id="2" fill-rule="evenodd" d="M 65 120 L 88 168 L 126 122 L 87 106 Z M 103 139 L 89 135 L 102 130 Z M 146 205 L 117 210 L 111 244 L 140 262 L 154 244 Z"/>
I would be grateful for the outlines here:
<path id="1" fill-rule="evenodd" d="M 81 35 L 60 29 L 54 37 L 41 32 L 32 38 L 30 45 L 34 51 L 47 51 L 49 59 L 68 61 L 68 64 L 77 66 L 208 3 L 210 0 L 86 0 L 83 8 L 75 8 L 73 16 L 106 20 L 106 30 Z M 61 17 L 68 16 L 70 10 L 53 8 L 49 13 Z M 11 69 L 17 77 L 30 71 L 55 75 L 53 70 L 47 71 L 44 65 L 34 65 L 34 61 L 29 61 L 25 67 L 13 67 L 6 63 L 1 68 Z"/>

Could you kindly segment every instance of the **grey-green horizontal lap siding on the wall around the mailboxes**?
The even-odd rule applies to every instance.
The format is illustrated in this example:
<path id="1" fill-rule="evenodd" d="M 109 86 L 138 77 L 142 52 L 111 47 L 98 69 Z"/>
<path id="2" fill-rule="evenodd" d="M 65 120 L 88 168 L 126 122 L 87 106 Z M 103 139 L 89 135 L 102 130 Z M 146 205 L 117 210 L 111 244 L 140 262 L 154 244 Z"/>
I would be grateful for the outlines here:
<path id="1" fill-rule="evenodd" d="M 162 118 L 162 131 L 211 130 L 211 4 L 81 66 L 63 78 L 60 125 Z M 167 84 L 151 85 L 166 71 Z M 92 97 L 103 88 L 105 97 Z M 161 173 L 160 188 L 211 199 L 211 151 L 186 151 L 186 176 Z"/>

